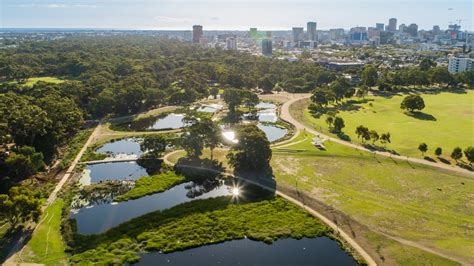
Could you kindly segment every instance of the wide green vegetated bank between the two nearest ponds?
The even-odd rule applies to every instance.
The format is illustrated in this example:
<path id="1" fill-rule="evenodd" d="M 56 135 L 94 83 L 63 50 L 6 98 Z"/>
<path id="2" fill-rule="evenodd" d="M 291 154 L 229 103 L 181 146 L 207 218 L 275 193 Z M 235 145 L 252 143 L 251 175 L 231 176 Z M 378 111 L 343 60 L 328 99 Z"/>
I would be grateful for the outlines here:
<path id="1" fill-rule="evenodd" d="M 78 240 L 76 263 L 136 262 L 143 251 L 172 252 L 233 239 L 271 243 L 279 238 L 330 235 L 311 215 L 281 198 L 234 203 L 230 197 L 196 200 L 146 214 Z"/>

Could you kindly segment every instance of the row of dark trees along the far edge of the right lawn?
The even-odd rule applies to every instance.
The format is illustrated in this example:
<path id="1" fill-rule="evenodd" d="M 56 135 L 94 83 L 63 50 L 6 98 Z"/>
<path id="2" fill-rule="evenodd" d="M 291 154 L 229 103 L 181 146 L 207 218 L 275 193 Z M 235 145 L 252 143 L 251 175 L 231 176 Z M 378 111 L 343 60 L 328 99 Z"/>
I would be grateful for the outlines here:
<path id="1" fill-rule="evenodd" d="M 444 66 L 437 67 L 430 59 L 425 58 L 419 66 L 402 69 L 382 69 L 368 64 L 360 72 L 362 85 L 377 86 L 379 90 L 390 91 L 402 86 L 441 86 L 455 87 L 460 84 L 474 86 L 474 71 L 451 74 Z"/>

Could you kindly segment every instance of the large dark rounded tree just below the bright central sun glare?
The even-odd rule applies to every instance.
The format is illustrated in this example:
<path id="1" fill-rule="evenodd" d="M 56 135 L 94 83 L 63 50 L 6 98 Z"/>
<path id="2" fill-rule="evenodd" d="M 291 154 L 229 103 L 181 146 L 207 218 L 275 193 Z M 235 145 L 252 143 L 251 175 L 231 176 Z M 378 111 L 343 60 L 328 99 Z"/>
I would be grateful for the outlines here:
<path id="1" fill-rule="evenodd" d="M 272 150 L 265 133 L 255 125 L 242 125 L 236 135 L 239 141 L 227 155 L 229 163 L 237 171 L 269 169 Z"/>

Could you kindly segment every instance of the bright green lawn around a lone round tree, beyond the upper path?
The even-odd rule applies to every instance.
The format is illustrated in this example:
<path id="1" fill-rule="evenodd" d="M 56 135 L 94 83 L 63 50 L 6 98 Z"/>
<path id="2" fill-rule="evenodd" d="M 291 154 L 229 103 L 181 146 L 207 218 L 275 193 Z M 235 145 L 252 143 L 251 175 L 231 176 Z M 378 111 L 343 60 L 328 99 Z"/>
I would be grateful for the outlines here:
<path id="1" fill-rule="evenodd" d="M 436 147 L 443 149 L 442 157 L 448 159 L 452 150 L 474 146 L 474 91 L 461 93 L 423 94 L 426 108 L 422 118 L 408 116 L 400 109 L 404 96 L 366 97 L 367 103 L 354 105 L 358 110 L 342 111 L 337 114 L 344 119 L 344 133 L 353 142 L 359 142 L 355 129 L 364 125 L 379 134 L 390 132 L 392 143 L 388 149 L 402 155 L 421 157 L 418 145 L 428 144 L 427 155 L 435 159 Z M 317 125 L 327 132 L 326 115 L 314 118 L 305 110 L 307 125 Z"/>

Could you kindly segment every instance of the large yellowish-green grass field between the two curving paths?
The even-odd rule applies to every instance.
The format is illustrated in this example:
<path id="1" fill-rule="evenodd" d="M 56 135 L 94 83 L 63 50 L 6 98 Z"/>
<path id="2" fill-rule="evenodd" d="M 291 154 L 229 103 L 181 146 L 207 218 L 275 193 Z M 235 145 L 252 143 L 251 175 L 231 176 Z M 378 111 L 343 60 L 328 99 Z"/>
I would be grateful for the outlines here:
<path id="1" fill-rule="evenodd" d="M 274 151 L 272 167 L 280 185 L 297 186 L 371 230 L 474 261 L 471 178 L 330 142 L 320 151 L 311 138 L 302 133 L 298 143 L 285 147 L 304 152 Z M 399 248 L 390 252 L 400 259 L 408 256 L 400 257 Z"/>

